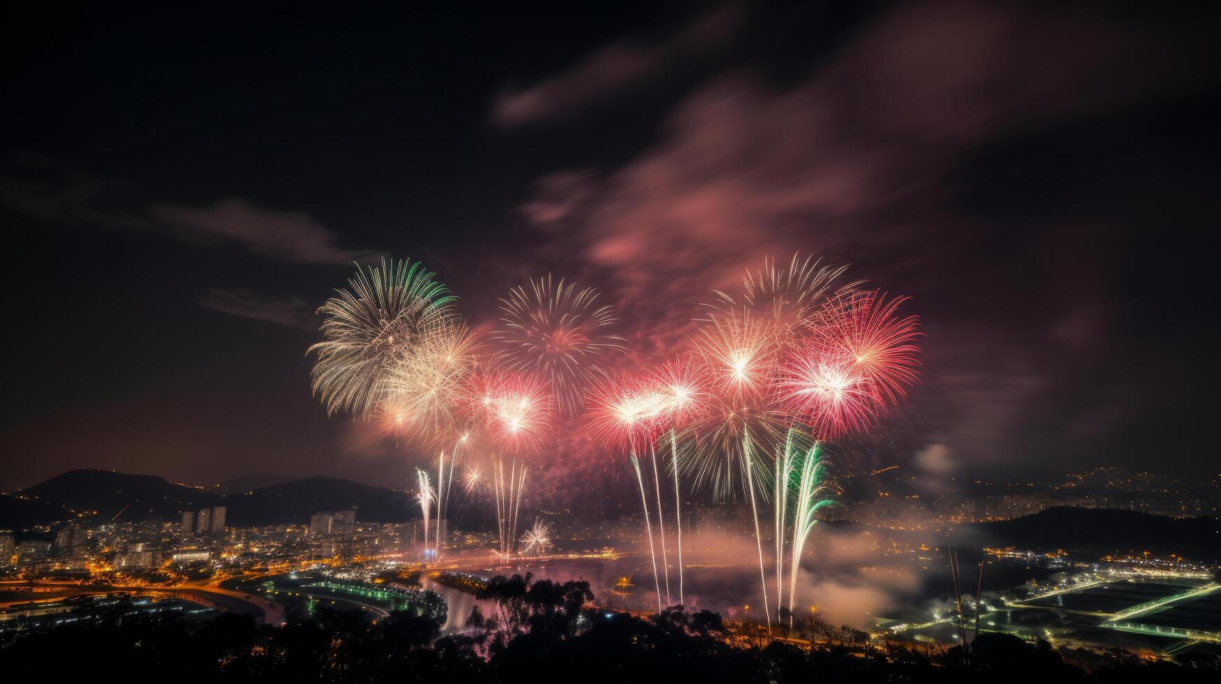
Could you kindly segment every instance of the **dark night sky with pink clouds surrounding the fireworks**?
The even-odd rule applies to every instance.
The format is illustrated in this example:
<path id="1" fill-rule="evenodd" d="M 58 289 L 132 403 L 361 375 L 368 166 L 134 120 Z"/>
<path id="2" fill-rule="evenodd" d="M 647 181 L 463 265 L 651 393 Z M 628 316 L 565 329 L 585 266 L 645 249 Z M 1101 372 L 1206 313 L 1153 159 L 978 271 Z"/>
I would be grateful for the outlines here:
<path id="1" fill-rule="evenodd" d="M 6 12 L 0 489 L 399 485 L 411 449 L 327 418 L 305 357 L 379 255 L 475 325 L 575 277 L 648 363 L 713 288 L 816 254 L 928 336 L 867 462 L 1215 463 L 1197 7 L 420 5 Z"/>

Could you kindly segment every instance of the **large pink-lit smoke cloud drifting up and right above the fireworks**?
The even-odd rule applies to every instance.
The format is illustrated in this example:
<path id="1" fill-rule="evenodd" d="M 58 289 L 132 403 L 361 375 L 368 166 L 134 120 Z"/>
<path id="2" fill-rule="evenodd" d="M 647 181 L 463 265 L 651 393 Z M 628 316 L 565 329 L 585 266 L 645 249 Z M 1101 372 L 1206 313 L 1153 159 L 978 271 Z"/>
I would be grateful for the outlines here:
<path id="1" fill-rule="evenodd" d="M 635 326 L 634 363 L 675 352 L 709 292 L 768 256 L 883 263 L 891 282 L 957 287 L 929 267 L 973 259 L 978 227 L 946 206 L 940 184 L 961 158 L 998 137 L 1195 87 L 1179 71 L 1199 55 L 1166 48 L 1165 34 L 1137 22 L 1059 9 L 905 6 L 796 86 L 746 71 L 709 79 L 678 103 L 658 143 L 603 173 L 547 176 L 521 211 L 548 249 L 584 255 L 609 283 Z M 1106 322 L 1078 314 L 1049 310 L 1072 326 L 1039 343 L 1089 341 Z M 929 352 L 929 381 L 945 403 L 946 443 L 999 453 L 1053 369 L 1004 324 L 941 324 L 949 336 L 938 337 L 933 322 L 928 347 L 943 349 Z M 978 346 L 982 335 L 994 344 Z"/>

